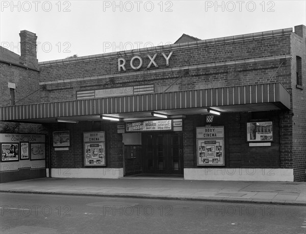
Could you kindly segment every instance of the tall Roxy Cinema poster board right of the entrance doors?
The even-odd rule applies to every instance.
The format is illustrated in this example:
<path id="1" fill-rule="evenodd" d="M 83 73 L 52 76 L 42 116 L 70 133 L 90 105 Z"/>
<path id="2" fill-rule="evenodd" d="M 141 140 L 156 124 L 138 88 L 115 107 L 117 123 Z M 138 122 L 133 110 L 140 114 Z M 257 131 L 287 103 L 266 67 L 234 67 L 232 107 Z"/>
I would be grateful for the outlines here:
<path id="1" fill-rule="evenodd" d="M 224 127 L 196 128 L 197 166 L 225 166 Z"/>

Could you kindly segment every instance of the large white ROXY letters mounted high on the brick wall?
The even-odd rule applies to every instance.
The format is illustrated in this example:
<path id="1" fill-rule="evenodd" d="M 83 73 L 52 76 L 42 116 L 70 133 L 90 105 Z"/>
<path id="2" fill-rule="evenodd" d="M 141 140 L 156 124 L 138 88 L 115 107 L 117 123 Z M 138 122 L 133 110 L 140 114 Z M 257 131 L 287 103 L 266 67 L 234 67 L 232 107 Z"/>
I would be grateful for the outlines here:
<path id="1" fill-rule="evenodd" d="M 169 66 L 169 59 L 171 58 L 172 54 L 173 54 L 173 51 L 170 52 L 169 55 L 166 55 L 165 53 L 161 53 L 163 55 L 163 57 L 165 58 L 165 62 L 166 62 L 166 66 Z M 153 57 L 151 57 L 150 55 L 146 55 L 150 62 L 147 66 L 147 68 L 150 68 L 150 66 L 153 64 L 155 67 L 158 67 L 158 64 L 155 62 L 155 58 L 156 56 L 158 55 L 158 53 L 154 54 Z M 134 66 L 133 65 L 133 62 L 134 60 L 138 60 L 139 61 L 139 64 L 137 66 Z M 132 69 L 134 70 L 138 70 L 143 64 L 143 60 L 140 56 L 134 56 L 131 61 L 130 61 L 130 66 L 132 67 Z M 121 71 L 121 68 L 123 71 L 126 71 L 126 68 L 125 68 L 125 65 L 126 65 L 126 60 L 125 58 L 118 58 L 118 71 L 120 72 Z"/>

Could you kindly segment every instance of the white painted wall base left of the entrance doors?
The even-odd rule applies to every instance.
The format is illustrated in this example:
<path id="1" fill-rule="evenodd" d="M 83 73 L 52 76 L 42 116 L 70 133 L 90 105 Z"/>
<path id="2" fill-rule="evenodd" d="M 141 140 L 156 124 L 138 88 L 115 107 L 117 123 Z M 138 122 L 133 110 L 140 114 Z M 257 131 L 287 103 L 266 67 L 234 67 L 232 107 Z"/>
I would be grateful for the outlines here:
<path id="1" fill-rule="evenodd" d="M 49 175 L 48 169 L 46 174 Z M 52 168 L 51 177 L 119 179 L 123 177 L 123 168 Z"/>

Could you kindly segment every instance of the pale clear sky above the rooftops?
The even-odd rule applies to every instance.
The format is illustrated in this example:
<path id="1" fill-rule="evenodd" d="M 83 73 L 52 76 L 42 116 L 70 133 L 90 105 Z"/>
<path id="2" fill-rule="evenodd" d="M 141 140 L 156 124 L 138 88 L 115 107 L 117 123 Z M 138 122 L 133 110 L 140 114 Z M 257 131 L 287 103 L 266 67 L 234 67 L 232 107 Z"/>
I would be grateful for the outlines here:
<path id="1" fill-rule="evenodd" d="M 20 55 L 36 33 L 39 62 L 306 25 L 306 1 L 0 1 L 1 46 Z"/>

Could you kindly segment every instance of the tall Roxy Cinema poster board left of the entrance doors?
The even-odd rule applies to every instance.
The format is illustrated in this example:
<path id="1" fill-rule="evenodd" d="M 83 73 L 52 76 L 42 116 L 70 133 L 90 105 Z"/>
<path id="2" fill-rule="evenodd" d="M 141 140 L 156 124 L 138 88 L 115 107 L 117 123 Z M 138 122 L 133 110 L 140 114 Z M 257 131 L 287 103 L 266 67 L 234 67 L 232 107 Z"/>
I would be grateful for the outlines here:
<path id="1" fill-rule="evenodd" d="M 106 166 L 105 132 L 84 132 L 85 167 Z"/>

